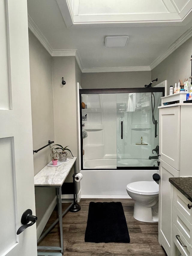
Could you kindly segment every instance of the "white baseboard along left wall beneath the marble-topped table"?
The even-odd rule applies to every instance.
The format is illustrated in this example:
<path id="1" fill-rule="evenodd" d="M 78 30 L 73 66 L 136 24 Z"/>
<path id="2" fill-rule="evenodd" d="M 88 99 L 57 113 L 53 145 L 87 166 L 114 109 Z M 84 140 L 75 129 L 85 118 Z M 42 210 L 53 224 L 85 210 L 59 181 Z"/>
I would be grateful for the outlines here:
<path id="1" fill-rule="evenodd" d="M 52 203 L 49 205 L 48 209 L 46 210 L 43 218 L 39 222 L 39 225 L 37 226 L 37 239 L 39 239 L 39 237 L 41 236 L 41 233 L 43 232 L 44 227 L 47 221 L 49 220 L 49 217 L 51 216 L 56 204 L 57 204 L 57 197 L 55 196 L 55 198 L 52 200 Z"/>

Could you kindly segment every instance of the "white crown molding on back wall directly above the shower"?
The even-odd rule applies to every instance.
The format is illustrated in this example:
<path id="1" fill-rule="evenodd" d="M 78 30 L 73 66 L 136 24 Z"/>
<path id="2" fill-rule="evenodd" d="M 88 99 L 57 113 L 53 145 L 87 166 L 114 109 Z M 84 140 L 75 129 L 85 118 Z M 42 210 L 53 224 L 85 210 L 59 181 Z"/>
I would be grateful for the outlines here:
<path id="1" fill-rule="evenodd" d="M 111 67 L 111 68 L 83 68 L 83 73 L 100 73 L 100 72 L 126 72 L 126 71 L 151 71 L 150 66 L 140 67 Z"/>

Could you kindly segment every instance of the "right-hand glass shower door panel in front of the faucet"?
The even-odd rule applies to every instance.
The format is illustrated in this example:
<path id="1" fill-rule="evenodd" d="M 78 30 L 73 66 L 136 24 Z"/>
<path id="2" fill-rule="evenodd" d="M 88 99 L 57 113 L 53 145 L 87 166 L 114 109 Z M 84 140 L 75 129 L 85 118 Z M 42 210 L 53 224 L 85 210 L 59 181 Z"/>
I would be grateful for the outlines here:
<path id="1" fill-rule="evenodd" d="M 117 167 L 157 167 L 162 92 L 116 94 Z"/>

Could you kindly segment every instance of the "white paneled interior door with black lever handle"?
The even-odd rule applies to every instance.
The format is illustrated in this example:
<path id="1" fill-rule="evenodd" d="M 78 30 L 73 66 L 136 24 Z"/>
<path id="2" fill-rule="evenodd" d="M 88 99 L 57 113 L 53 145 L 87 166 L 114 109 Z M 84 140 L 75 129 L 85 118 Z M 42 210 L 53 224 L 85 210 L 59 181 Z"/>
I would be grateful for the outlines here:
<path id="1" fill-rule="evenodd" d="M 26 0 L 0 0 L 0 255 L 37 255 Z M 30 222 L 29 222 L 30 223 Z"/>

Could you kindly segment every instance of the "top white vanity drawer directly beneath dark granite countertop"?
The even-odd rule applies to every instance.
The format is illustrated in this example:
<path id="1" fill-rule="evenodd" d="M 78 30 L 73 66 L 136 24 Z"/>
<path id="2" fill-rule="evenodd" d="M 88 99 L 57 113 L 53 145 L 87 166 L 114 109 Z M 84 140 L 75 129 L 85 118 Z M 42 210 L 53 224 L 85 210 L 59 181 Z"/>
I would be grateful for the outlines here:
<path id="1" fill-rule="evenodd" d="M 182 213 L 188 222 L 190 222 L 190 215 L 192 209 L 189 209 L 187 204 L 191 202 L 179 190 L 174 188 L 174 205 Z"/>

